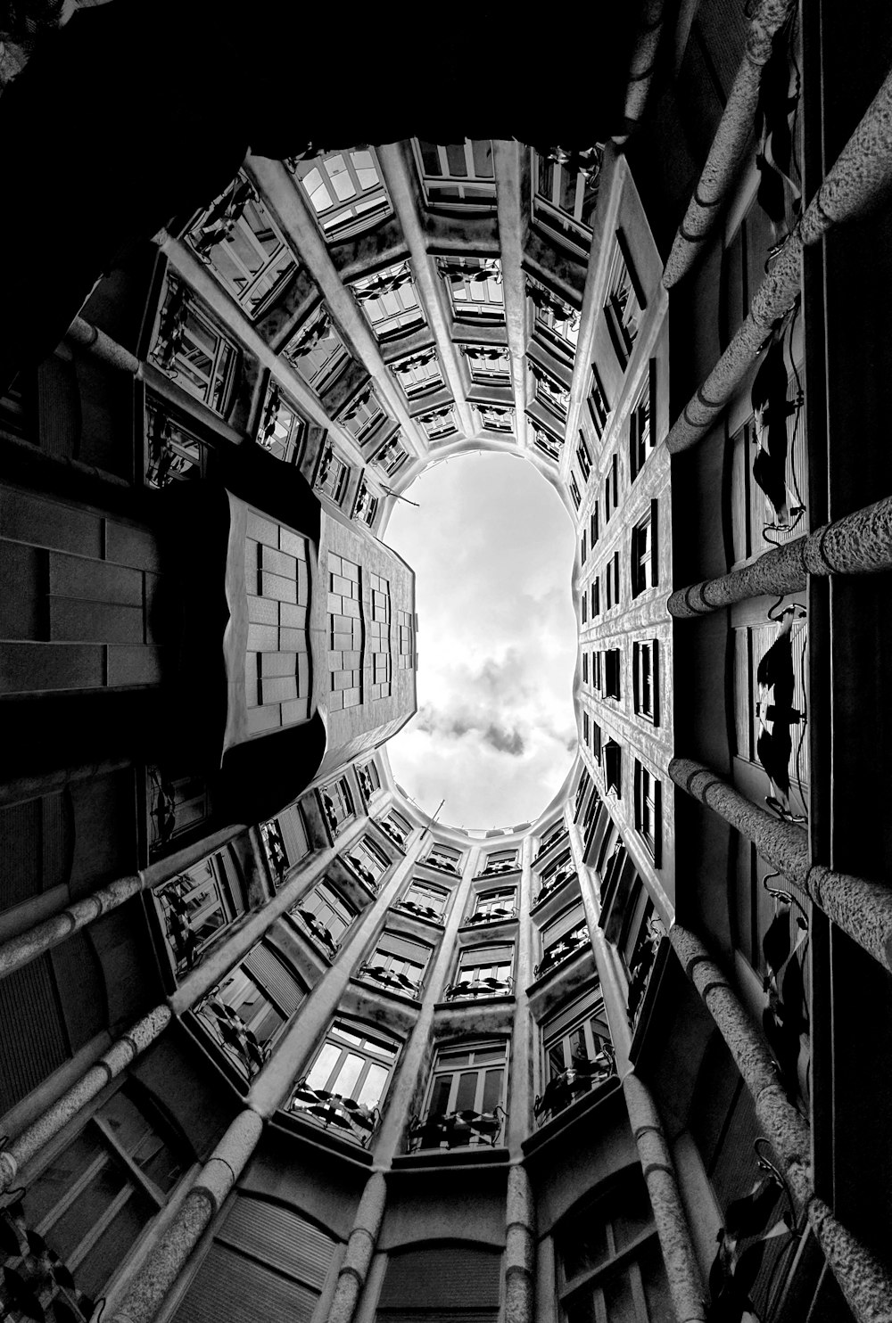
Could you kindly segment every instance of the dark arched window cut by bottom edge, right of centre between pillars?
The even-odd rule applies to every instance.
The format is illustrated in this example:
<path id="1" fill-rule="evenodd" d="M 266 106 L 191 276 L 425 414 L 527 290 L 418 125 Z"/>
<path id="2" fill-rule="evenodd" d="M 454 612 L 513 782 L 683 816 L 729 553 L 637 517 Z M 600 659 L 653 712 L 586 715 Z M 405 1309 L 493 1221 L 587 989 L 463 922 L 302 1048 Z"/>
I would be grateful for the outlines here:
<path id="1" fill-rule="evenodd" d="M 577 1204 L 555 1242 L 562 1323 L 668 1323 L 675 1316 L 639 1168 Z"/>

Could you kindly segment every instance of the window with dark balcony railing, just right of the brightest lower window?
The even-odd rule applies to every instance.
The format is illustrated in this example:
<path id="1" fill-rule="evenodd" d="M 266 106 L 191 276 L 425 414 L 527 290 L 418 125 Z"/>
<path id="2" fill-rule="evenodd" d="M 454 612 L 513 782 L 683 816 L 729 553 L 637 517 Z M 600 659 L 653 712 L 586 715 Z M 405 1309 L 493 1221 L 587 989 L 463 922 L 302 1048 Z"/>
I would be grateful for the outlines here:
<path id="1" fill-rule="evenodd" d="M 424 1121 L 409 1130 L 410 1148 L 496 1144 L 507 1082 L 506 1043 L 439 1048 Z"/>

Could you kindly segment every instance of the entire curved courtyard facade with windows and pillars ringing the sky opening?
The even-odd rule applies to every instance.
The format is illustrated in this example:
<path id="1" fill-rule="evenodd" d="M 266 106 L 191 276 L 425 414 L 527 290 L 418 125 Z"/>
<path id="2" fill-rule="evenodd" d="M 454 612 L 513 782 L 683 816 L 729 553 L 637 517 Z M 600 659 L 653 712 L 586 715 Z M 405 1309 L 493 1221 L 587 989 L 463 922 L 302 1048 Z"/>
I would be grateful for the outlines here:
<path id="1" fill-rule="evenodd" d="M 889 33 L 836 9 L 645 7 L 585 149 L 249 153 L 0 382 L 4 1316 L 892 1316 Z M 577 537 L 578 754 L 488 832 L 386 754 L 388 516 L 480 448 Z"/>

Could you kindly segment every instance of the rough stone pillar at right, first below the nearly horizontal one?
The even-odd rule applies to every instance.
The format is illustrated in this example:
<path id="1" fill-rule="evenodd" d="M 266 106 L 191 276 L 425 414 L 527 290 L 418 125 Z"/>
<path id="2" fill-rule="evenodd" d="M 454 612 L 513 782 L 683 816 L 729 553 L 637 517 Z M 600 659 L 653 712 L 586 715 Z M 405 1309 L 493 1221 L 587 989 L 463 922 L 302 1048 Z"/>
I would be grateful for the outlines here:
<path id="1" fill-rule="evenodd" d="M 672 758 L 668 771 L 676 786 L 752 840 L 764 860 L 802 888 L 827 918 L 892 971 L 892 888 L 813 864 L 801 827 L 760 808 L 701 763 Z"/>

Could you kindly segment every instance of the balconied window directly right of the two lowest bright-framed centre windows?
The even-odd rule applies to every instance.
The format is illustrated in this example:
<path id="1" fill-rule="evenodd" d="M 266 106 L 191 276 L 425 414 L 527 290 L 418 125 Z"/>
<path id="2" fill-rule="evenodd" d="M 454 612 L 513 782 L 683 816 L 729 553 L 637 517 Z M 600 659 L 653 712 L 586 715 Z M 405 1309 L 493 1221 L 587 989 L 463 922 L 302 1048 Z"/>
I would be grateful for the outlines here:
<path id="1" fill-rule="evenodd" d="M 551 1015 L 543 1033 L 543 1093 L 536 1097 L 540 1125 L 613 1073 L 613 1044 L 598 987 Z"/>

